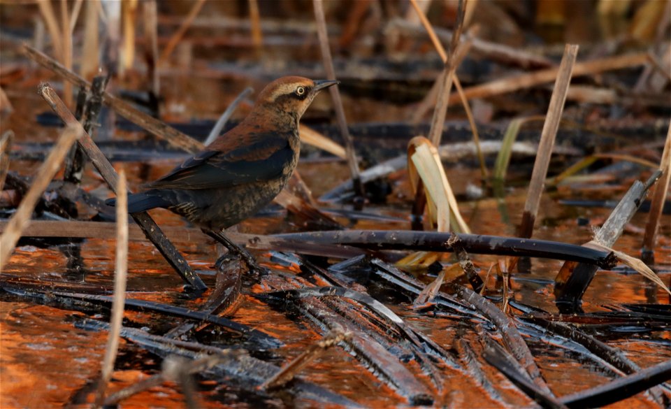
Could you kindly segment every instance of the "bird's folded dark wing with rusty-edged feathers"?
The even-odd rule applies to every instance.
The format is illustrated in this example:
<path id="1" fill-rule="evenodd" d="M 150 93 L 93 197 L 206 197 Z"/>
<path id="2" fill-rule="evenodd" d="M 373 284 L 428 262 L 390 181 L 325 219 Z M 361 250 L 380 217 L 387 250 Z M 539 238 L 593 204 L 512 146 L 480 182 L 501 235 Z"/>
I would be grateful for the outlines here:
<path id="1" fill-rule="evenodd" d="M 287 138 L 268 135 L 226 152 L 205 150 L 187 159 L 163 178 L 156 189 L 213 189 L 268 180 L 282 175 L 294 152 Z"/>

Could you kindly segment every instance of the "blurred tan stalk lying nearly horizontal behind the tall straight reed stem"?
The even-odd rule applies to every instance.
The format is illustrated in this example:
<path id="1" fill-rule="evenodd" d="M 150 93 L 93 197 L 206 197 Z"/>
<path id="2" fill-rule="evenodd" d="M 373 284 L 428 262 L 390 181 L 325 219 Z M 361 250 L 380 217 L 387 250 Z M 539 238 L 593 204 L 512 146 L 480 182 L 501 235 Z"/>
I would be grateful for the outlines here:
<path id="1" fill-rule="evenodd" d="M 591 74 L 601 73 L 603 71 L 612 71 L 618 69 L 626 69 L 633 66 L 640 66 L 647 64 L 647 53 L 641 52 L 633 55 L 619 55 L 616 57 L 607 57 L 603 59 L 595 59 L 593 61 L 579 62 L 573 67 L 573 76 L 589 76 Z M 507 94 L 509 92 L 517 91 L 518 89 L 526 89 L 542 85 L 547 82 L 552 82 L 557 77 L 559 68 L 544 69 L 535 71 L 533 73 L 521 74 L 512 78 L 503 78 L 501 80 L 493 80 L 482 85 L 475 85 L 463 90 L 463 93 L 468 99 L 486 98 L 487 96 Z M 456 102 L 459 100 L 459 94 L 452 94 L 449 96 L 449 102 Z"/>

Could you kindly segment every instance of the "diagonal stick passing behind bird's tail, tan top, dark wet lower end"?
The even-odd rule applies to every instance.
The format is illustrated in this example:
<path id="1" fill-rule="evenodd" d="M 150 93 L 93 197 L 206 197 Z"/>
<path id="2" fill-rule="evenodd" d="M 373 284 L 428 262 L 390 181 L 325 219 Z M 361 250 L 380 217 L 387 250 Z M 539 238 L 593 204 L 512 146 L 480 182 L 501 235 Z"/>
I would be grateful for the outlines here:
<path id="1" fill-rule="evenodd" d="M 82 125 L 75 119 L 72 113 L 64 105 L 63 101 L 58 97 L 54 89 L 48 84 L 43 84 L 40 87 L 41 96 L 49 103 L 52 110 L 65 122 L 68 127 L 73 126 L 82 133 L 82 138 L 79 141 L 79 145 L 86 152 L 93 166 L 100 172 L 101 176 L 107 182 L 110 189 L 113 192 L 116 192 L 117 186 L 117 172 L 114 170 L 114 167 L 107 160 L 103 152 L 100 151 L 96 143 L 92 140 L 91 136 L 87 134 Z M 201 291 L 207 288 L 203 280 L 194 273 L 187 261 L 182 257 L 182 254 L 175 249 L 173 243 L 168 241 L 168 238 L 163 234 L 161 229 L 158 227 L 156 222 L 147 214 L 147 212 L 133 213 L 132 217 L 143 229 L 147 238 L 154 243 L 159 252 L 163 254 L 168 264 L 170 264 L 175 271 L 180 275 L 180 277 L 192 285 L 197 291 Z"/>

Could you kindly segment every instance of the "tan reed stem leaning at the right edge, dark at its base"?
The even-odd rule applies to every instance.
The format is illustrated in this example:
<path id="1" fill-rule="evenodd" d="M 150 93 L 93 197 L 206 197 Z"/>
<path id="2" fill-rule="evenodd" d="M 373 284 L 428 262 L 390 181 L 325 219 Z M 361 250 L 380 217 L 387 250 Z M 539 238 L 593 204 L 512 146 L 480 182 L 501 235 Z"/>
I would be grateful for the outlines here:
<path id="1" fill-rule="evenodd" d="M 655 262 L 655 242 L 657 232 L 659 231 L 659 221 L 662 217 L 662 208 L 664 207 L 664 201 L 671 182 L 671 124 L 669 124 L 669 130 L 666 134 L 666 142 L 664 143 L 659 168 L 663 173 L 652 192 L 650 213 L 648 214 L 648 221 L 645 224 L 645 233 L 643 235 L 642 259 L 649 266 Z"/>

